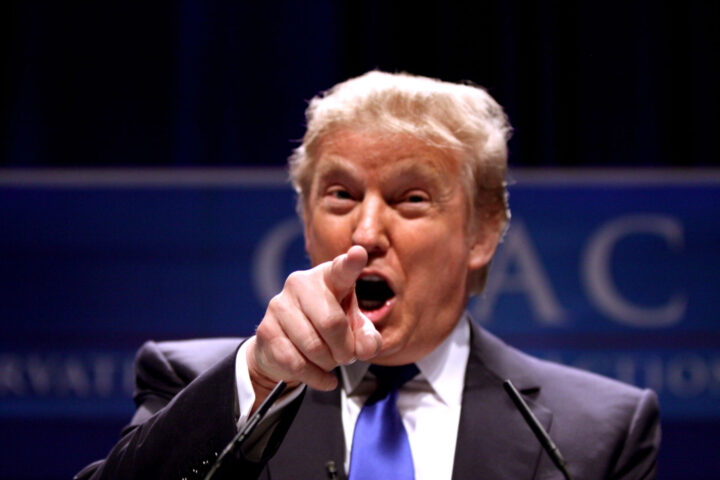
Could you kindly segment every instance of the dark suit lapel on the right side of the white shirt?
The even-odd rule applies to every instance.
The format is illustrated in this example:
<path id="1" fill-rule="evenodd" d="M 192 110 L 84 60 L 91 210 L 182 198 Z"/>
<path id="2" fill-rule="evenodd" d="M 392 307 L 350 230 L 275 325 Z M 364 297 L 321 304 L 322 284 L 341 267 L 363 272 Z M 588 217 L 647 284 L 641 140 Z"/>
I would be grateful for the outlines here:
<path id="1" fill-rule="evenodd" d="M 470 357 L 455 448 L 453 480 L 531 479 L 542 448 L 502 387 L 510 378 L 547 429 L 552 413 L 536 404 L 539 391 L 518 354 L 472 322 Z"/>

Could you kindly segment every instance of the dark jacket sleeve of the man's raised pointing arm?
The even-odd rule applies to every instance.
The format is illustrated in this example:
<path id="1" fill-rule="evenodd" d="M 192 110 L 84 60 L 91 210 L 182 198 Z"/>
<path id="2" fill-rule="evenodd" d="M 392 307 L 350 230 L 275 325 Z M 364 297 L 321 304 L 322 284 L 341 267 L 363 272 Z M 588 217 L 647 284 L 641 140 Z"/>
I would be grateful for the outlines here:
<path id="1" fill-rule="evenodd" d="M 186 369 L 168 360 L 156 343 L 146 343 L 136 359 L 135 415 L 107 458 L 85 467 L 76 480 L 203 478 L 237 433 L 236 352 L 189 381 Z M 260 462 L 231 458 L 215 478 L 257 478 L 300 400 L 279 417 Z"/>

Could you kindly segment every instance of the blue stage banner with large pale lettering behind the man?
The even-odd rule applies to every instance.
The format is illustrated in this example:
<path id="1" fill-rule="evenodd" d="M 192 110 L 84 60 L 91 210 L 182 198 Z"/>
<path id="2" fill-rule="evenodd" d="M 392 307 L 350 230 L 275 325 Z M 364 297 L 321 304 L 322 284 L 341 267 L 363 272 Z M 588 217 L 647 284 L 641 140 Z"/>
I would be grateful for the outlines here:
<path id="1" fill-rule="evenodd" d="M 719 424 L 720 171 L 512 178 L 475 320 L 532 354 L 654 389 L 664 421 Z M 277 170 L 0 171 L 0 232 L 11 432 L 119 428 L 142 342 L 252 334 L 285 277 L 308 267 Z M 117 430 L 107 435 L 102 451 Z"/>

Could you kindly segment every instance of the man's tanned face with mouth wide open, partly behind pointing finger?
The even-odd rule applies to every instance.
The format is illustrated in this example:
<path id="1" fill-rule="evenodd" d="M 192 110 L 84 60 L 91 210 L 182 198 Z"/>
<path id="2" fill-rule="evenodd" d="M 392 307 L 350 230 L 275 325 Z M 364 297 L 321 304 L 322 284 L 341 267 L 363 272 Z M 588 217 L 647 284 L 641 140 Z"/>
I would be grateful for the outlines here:
<path id="1" fill-rule="evenodd" d="M 497 236 L 468 228 L 459 172 L 453 153 L 408 135 L 341 130 L 320 143 L 306 249 L 313 265 L 367 250 L 355 291 L 382 335 L 373 363 L 414 362 L 440 344 L 467 303 L 468 273 L 494 253 Z"/>

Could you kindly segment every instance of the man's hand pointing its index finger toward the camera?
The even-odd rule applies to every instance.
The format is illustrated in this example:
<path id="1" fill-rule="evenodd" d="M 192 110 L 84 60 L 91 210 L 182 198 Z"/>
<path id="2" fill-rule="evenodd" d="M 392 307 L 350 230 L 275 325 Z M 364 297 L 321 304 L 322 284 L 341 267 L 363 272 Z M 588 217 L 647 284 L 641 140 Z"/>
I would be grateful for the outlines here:
<path id="1" fill-rule="evenodd" d="M 270 300 L 247 350 L 256 407 L 279 380 L 332 390 L 335 367 L 377 354 L 380 334 L 355 296 L 367 261 L 365 249 L 353 246 L 330 262 L 290 274 Z"/>

